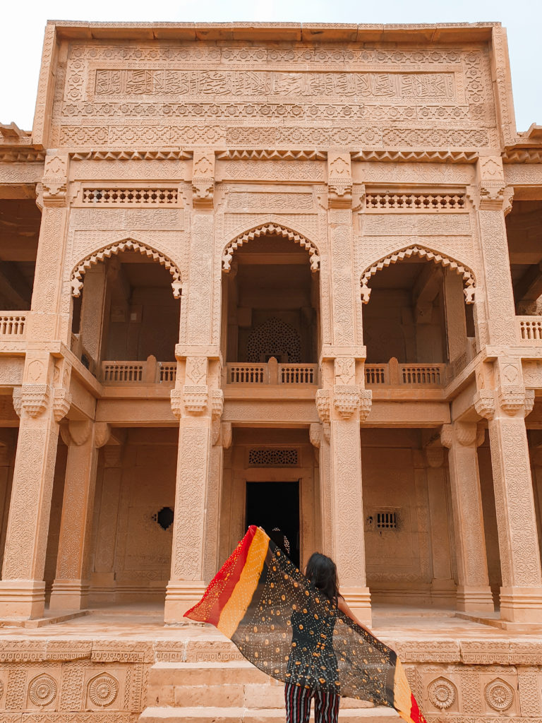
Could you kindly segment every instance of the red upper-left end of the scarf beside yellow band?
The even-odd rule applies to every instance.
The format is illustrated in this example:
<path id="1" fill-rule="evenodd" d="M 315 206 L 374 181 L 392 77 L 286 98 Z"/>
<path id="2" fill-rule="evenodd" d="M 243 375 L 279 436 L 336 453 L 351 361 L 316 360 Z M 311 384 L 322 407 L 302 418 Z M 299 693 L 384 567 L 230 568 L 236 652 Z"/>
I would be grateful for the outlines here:
<path id="1" fill-rule="evenodd" d="M 230 599 L 233 588 L 241 577 L 256 530 L 255 525 L 249 527 L 244 538 L 210 581 L 202 599 L 185 612 L 184 617 L 198 620 L 200 623 L 212 623 L 215 627 L 218 625 L 220 612 Z"/>

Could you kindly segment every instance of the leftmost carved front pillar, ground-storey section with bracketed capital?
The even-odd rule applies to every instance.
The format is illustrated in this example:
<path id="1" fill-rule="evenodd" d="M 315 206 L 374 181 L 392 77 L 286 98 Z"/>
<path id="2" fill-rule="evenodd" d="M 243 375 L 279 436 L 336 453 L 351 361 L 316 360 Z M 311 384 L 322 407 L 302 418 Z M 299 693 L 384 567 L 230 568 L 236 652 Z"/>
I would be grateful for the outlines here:
<path id="1" fill-rule="evenodd" d="M 0 581 L 0 617 L 41 617 L 45 607 L 43 571 L 59 422 L 69 408 L 64 360 L 46 352 L 27 354 L 22 387 L 14 390 L 20 415 Z"/>

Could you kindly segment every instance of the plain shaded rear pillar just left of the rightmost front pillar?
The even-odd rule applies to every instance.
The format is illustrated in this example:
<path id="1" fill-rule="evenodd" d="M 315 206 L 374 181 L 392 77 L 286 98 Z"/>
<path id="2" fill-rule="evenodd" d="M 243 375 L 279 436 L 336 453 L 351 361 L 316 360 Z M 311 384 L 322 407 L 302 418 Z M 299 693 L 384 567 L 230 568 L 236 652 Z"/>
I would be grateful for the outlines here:
<path id="1" fill-rule="evenodd" d="M 452 509 L 457 554 L 457 609 L 492 612 L 486 539 L 478 474 L 478 437 L 476 422 L 444 424 L 440 435 L 448 448 Z"/>

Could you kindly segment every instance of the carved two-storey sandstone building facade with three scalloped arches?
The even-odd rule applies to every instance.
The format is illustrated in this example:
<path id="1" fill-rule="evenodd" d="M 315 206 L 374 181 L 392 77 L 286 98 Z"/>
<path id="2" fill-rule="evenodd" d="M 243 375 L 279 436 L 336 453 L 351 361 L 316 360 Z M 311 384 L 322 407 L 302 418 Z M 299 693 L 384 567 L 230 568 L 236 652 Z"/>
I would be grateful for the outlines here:
<path id="1" fill-rule="evenodd" d="M 368 622 L 542 623 L 542 129 L 502 27 L 51 22 L 0 131 L 0 619 L 176 623 L 257 523 Z"/>

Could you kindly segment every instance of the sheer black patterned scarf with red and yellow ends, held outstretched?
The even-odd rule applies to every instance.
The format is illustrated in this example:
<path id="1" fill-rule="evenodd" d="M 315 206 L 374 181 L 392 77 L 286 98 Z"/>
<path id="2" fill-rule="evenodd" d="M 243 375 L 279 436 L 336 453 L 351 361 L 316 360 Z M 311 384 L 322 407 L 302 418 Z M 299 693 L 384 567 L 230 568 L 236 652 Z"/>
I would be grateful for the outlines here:
<path id="1" fill-rule="evenodd" d="M 284 683 L 395 708 L 425 723 L 397 654 L 337 609 L 256 526 L 185 617 L 212 623 Z"/>

